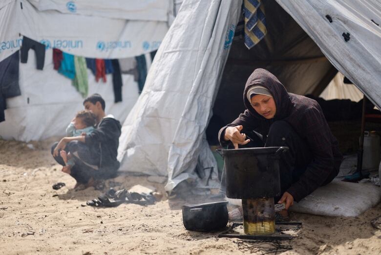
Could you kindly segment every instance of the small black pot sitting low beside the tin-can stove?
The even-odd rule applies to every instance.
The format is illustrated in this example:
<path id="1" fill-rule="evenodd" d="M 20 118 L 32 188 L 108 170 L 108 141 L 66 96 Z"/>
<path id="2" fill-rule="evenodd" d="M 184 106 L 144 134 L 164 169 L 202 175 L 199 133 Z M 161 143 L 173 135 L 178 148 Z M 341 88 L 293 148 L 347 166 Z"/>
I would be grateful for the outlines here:
<path id="1" fill-rule="evenodd" d="M 212 231 L 225 228 L 229 221 L 227 204 L 222 201 L 182 206 L 185 229 Z"/>

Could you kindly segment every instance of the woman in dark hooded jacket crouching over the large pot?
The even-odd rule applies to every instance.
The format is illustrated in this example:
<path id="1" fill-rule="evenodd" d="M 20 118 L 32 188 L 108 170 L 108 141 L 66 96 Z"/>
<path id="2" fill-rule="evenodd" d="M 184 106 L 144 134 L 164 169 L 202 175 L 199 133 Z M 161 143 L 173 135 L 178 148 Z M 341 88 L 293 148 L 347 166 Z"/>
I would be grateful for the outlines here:
<path id="1" fill-rule="evenodd" d="M 221 128 L 219 141 L 241 147 L 287 146 L 279 161 L 282 197 L 286 209 L 312 191 L 330 183 L 339 173 L 342 155 L 319 104 L 288 93 L 269 71 L 256 69 L 246 82 L 247 110 Z M 250 138 L 250 139 L 249 139 Z"/>

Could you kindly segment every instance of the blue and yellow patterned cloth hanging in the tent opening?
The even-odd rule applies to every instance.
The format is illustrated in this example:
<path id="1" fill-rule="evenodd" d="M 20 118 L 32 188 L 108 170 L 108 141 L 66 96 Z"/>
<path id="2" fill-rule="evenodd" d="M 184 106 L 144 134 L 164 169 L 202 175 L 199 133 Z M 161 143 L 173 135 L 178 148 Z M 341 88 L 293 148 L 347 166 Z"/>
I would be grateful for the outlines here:
<path id="1" fill-rule="evenodd" d="M 244 0 L 245 46 L 254 47 L 267 34 L 265 9 L 261 0 Z"/>

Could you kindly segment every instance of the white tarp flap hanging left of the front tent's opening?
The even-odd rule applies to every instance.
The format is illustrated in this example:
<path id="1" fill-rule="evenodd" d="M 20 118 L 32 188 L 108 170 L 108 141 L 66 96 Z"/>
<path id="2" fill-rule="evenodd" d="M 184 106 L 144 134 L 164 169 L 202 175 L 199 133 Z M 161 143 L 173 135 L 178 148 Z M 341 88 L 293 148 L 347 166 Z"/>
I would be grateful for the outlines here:
<path id="1" fill-rule="evenodd" d="M 168 176 L 167 190 L 197 164 L 241 1 L 186 1 L 158 50 L 123 127 L 121 171 Z M 208 148 L 201 155 L 216 163 Z M 206 160 L 204 161 L 206 162 Z M 212 164 L 212 165 L 211 165 Z M 182 175 L 181 175 L 182 174 Z"/>

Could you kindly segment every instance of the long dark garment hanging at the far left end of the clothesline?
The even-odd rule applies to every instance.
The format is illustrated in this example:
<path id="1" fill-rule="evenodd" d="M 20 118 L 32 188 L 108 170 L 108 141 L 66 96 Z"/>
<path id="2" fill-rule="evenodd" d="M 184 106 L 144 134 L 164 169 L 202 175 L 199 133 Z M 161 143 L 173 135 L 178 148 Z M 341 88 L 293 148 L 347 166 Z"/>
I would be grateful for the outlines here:
<path id="1" fill-rule="evenodd" d="M 19 50 L 0 62 L 0 122 L 5 120 L 5 98 L 21 95 L 19 86 Z"/>

